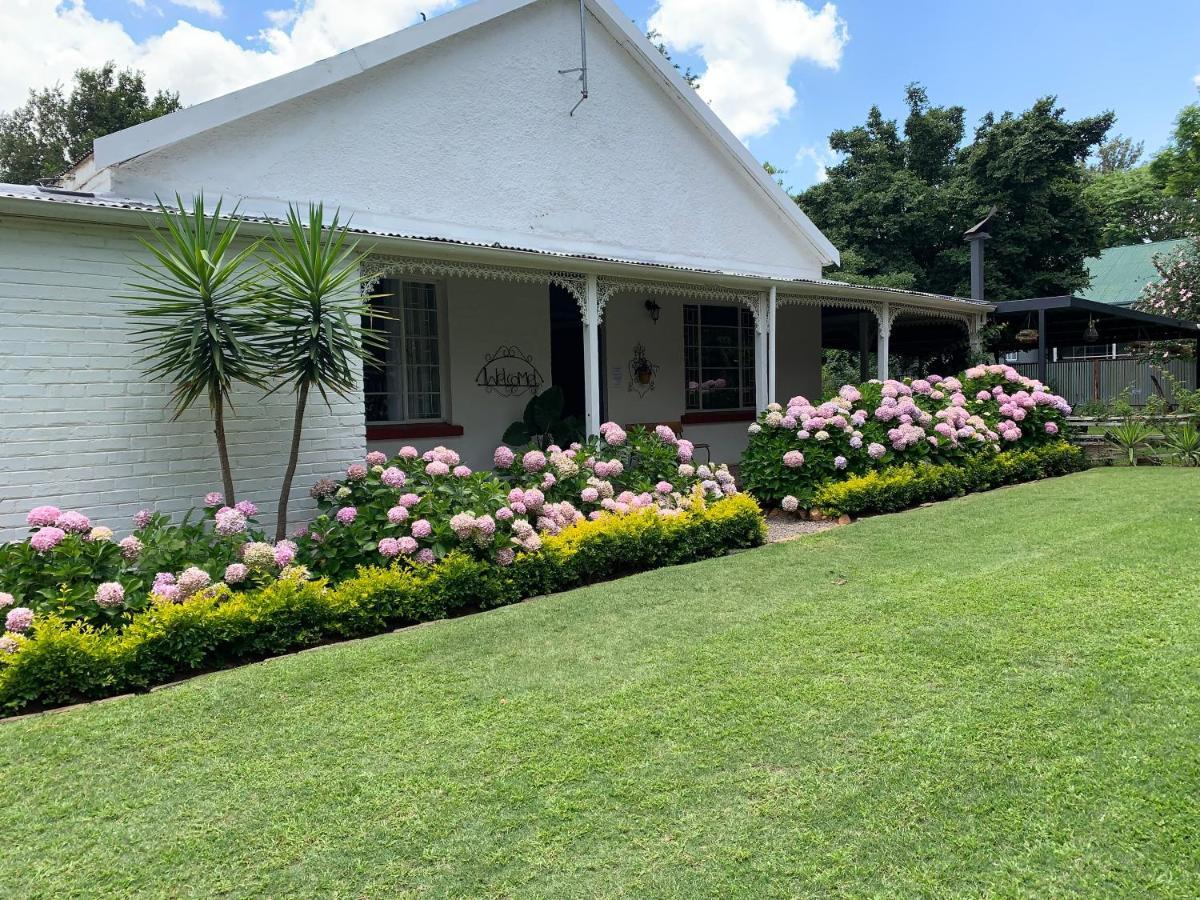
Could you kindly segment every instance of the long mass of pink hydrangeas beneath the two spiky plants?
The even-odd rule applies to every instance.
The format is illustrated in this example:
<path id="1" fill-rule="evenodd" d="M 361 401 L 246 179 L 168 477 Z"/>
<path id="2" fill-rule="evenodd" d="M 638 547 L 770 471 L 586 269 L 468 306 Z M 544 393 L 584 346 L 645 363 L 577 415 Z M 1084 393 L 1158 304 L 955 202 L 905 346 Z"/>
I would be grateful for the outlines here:
<path id="1" fill-rule="evenodd" d="M 674 516 L 737 493 L 725 466 L 696 467 L 671 428 L 614 422 L 583 444 L 514 451 L 472 472 L 444 446 L 374 451 L 340 480 L 312 487 L 319 515 L 292 539 L 269 542 L 258 509 L 204 498 L 181 523 L 142 511 L 118 540 L 86 516 L 53 506 L 30 511 L 30 536 L 0 545 L 0 653 L 13 653 L 40 618 L 124 628 L 151 606 L 233 596 L 280 578 L 341 582 L 362 566 L 420 570 L 458 553 L 511 565 L 546 535 L 606 515 Z"/>

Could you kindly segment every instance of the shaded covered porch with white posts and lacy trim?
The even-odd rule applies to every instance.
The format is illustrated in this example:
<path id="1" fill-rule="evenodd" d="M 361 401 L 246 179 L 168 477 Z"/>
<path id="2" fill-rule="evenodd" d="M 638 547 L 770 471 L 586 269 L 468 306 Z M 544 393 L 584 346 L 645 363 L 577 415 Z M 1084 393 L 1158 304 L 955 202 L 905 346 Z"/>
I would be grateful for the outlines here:
<path id="1" fill-rule="evenodd" d="M 362 262 L 390 338 L 365 367 L 372 449 L 436 440 L 485 464 L 529 398 L 557 384 L 588 433 L 606 420 L 671 424 L 734 461 L 758 410 L 820 396 L 823 348 L 857 353 L 864 380 L 884 379 L 896 353 L 953 342 L 978 353 L 991 310 L 832 281 L 457 250 Z"/>

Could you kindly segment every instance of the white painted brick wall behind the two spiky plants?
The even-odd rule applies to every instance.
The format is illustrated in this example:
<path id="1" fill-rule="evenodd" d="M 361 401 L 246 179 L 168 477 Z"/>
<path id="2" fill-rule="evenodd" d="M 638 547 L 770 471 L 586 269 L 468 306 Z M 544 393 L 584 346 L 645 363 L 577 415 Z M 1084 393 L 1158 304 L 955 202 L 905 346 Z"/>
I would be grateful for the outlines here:
<path id="1" fill-rule="evenodd" d="M 0 216 L 0 540 L 23 534 L 42 503 L 124 533 L 142 508 L 179 514 L 221 488 L 206 406 L 173 422 L 169 385 L 140 373 L 128 302 L 115 295 L 143 253 L 128 228 Z M 227 414 L 239 499 L 264 514 L 278 497 L 290 401 L 242 390 Z M 293 522 L 308 516 L 312 481 L 366 444 L 358 397 L 308 410 Z"/>

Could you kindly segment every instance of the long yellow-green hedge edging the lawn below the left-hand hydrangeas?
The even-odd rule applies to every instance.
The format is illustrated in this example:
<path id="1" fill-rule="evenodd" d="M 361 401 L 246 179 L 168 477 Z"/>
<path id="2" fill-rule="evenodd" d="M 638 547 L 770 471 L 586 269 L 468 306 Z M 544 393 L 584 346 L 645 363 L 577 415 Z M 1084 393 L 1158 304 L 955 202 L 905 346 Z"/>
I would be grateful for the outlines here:
<path id="1" fill-rule="evenodd" d="M 319 643 L 487 610 L 634 572 L 721 556 L 766 540 L 744 494 L 676 516 L 642 510 L 580 522 L 499 568 L 451 553 L 428 569 L 364 568 L 330 587 L 284 578 L 154 606 L 120 632 L 48 618 L 0 660 L 0 712 L 49 709 L 144 691 Z"/>

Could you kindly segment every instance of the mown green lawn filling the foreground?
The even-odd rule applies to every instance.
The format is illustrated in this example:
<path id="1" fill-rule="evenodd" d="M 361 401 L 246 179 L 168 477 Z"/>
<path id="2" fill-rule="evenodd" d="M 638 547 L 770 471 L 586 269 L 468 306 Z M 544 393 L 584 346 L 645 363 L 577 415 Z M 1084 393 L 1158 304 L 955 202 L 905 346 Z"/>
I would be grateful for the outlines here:
<path id="1" fill-rule="evenodd" d="M 0 726 L 0 895 L 1200 894 L 1200 473 Z"/>

